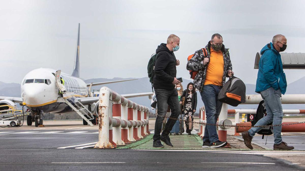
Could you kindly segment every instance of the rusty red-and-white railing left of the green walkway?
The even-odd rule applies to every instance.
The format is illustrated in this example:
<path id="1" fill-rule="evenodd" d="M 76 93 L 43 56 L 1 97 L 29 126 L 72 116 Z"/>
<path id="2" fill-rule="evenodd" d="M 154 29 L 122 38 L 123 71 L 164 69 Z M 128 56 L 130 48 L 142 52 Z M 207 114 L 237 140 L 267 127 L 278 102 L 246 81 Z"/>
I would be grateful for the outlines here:
<path id="1" fill-rule="evenodd" d="M 100 89 L 99 142 L 95 148 L 115 148 L 149 135 L 149 108 L 112 91 Z"/>

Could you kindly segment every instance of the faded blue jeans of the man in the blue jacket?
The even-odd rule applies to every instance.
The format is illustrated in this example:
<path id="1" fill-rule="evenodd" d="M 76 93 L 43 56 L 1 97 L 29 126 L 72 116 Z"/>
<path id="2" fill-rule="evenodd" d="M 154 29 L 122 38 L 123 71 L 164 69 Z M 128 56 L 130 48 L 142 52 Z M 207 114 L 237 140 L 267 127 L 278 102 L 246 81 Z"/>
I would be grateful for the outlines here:
<path id="1" fill-rule="evenodd" d="M 273 125 L 282 124 L 283 120 L 283 108 L 281 103 L 281 90 L 274 90 L 272 87 L 267 90 L 261 91 L 260 95 L 264 99 L 267 115 L 261 118 L 255 126 L 267 125 L 273 122 Z M 249 130 L 251 137 L 260 131 L 260 127 L 252 127 Z M 273 127 L 274 144 L 282 143 L 282 126 Z"/>

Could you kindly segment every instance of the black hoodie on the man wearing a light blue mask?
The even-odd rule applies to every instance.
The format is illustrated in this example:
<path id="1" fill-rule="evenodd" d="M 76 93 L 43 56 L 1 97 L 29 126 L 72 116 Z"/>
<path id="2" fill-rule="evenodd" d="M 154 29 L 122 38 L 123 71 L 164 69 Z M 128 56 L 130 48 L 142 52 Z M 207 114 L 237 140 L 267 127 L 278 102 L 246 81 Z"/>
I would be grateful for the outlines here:
<path id="1" fill-rule="evenodd" d="M 174 52 L 170 51 L 166 44 L 162 43 L 156 49 L 156 54 L 153 87 L 155 89 L 172 90 L 175 88 L 172 82 L 177 74 Z"/>

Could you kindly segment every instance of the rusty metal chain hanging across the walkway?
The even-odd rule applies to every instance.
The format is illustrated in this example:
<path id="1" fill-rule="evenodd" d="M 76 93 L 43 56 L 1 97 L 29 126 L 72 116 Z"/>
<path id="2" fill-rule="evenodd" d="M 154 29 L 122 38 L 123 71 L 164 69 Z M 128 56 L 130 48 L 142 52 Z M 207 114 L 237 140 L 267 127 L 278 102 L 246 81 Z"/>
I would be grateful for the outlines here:
<path id="1" fill-rule="evenodd" d="M 113 100 L 110 100 L 110 101 L 112 101 L 112 103 L 117 103 L 117 104 L 120 104 L 122 106 L 127 106 L 127 105 L 122 104 L 120 102 L 115 102 Z M 133 109 L 138 110 L 137 108 L 134 108 L 134 107 L 133 107 Z M 139 111 L 145 112 L 144 110 L 139 110 Z M 297 122 L 297 123 L 283 124 L 283 125 L 282 124 L 277 124 L 277 125 L 260 125 L 260 126 L 237 126 L 237 125 L 234 126 L 234 125 L 220 125 L 220 124 L 200 123 L 200 122 L 195 122 L 195 121 L 191 121 L 191 120 L 184 120 L 184 119 L 178 119 L 178 118 L 174 118 L 174 117 L 167 117 L 167 116 L 159 115 L 157 113 L 151 113 L 151 112 L 146 112 L 146 113 L 156 115 L 156 116 L 160 116 L 160 117 L 163 117 L 163 118 L 172 119 L 172 120 L 179 120 L 179 121 L 182 121 L 182 122 L 185 121 L 185 122 L 193 123 L 193 124 L 214 125 L 214 126 L 223 126 L 223 127 L 278 127 L 278 126 L 286 126 L 286 125 L 295 125 L 295 124 L 304 124 L 305 123 L 305 122 Z"/>

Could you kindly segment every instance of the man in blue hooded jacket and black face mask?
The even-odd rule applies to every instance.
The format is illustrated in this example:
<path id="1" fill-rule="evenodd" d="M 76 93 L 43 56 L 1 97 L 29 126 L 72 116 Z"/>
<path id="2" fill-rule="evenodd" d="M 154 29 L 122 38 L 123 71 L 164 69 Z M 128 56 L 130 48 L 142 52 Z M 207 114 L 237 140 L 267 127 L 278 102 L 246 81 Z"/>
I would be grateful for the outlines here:
<path id="1" fill-rule="evenodd" d="M 286 92 L 287 82 L 279 52 L 285 51 L 286 47 L 286 37 L 277 34 L 273 37 L 272 43 L 267 44 L 260 51 L 262 56 L 257 73 L 255 92 L 260 93 L 264 99 L 267 116 L 261 118 L 255 126 L 267 125 L 271 122 L 274 125 L 282 124 L 283 109 L 281 96 Z M 248 148 L 253 149 L 251 145 L 252 138 L 260 129 L 260 127 L 252 127 L 249 131 L 242 133 L 242 138 Z M 273 127 L 273 149 L 292 150 L 294 147 L 288 146 L 282 141 L 281 131 L 282 126 Z"/>

